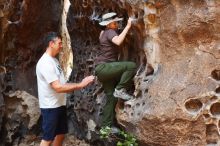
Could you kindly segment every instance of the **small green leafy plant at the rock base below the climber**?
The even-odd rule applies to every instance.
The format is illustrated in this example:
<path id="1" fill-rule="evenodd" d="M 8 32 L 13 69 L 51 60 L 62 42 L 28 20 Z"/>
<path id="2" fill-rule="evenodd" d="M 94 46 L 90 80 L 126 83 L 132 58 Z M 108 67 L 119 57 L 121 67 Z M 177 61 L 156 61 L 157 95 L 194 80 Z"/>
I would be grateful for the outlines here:
<path id="1" fill-rule="evenodd" d="M 112 129 L 108 126 L 100 129 L 100 138 L 108 139 L 109 141 L 114 140 L 117 142 L 117 146 L 138 146 L 134 135 L 123 130 L 119 130 L 118 133 L 112 133 Z"/>

